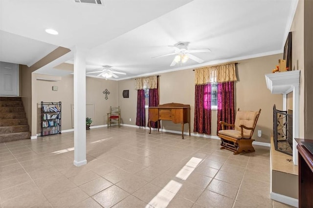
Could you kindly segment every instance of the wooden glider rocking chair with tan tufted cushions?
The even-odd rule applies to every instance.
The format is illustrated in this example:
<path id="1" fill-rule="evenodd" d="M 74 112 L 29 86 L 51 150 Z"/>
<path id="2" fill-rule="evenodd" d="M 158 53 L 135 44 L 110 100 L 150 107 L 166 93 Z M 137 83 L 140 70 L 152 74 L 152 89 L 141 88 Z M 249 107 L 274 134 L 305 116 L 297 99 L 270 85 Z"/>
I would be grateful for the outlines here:
<path id="1" fill-rule="evenodd" d="M 218 137 L 221 138 L 221 148 L 228 149 L 234 152 L 234 155 L 243 151 L 254 152 L 252 146 L 253 131 L 258 122 L 259 111 L 237 111 L 235 124 L 227 124 L 223 121 L 220 122 L 222 130 L 218 132 Z M 225 125 L 233 127 L 233 129 L 225 130 Z"/>

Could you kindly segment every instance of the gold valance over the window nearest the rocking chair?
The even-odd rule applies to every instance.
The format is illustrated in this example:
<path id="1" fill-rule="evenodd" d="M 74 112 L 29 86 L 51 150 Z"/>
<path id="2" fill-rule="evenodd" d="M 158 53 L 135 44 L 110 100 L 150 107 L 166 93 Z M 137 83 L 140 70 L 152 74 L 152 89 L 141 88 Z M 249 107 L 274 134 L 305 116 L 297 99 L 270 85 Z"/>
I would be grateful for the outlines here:
<path id="1" fill-rule="evenodd" d="M 195 84 L 237 81 L 235 63 L 205 66 L 195 69 Z"/>

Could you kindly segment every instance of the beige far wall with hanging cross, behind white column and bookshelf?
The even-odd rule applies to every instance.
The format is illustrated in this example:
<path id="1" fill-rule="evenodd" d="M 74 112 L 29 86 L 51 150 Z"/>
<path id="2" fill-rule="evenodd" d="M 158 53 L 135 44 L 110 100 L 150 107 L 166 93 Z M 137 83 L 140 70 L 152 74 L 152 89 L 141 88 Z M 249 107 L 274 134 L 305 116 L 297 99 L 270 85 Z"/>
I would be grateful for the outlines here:
<path id="1" fill-rule="evenodd" d="M 41 109 L 40 103 L 43 102 L 62 102 L 62 130 L 72 129 L 72 104 L 73 104 L 73 75 L 64 77 L 53 77 L 48 75 L 33 74 L 33 88 L 36 97 L 36 132 L 41 131 Z M 58 79 L 58 82 L 49 82 L 37 80 L 37 78 L 52 78 Z M 52 91 L 52 86 L 58 86 L 58 91 Z M 108 100 L 105 100 L 105 95 L 102 93 L 105 89 L 110 91 Z M 86 104 L 93 104 L 94 118 L 91 118 L 93 125 L 105 125 L 107 123 L 107 113 L 110 106 L 117 105 L 117 82 L 86 78 Z M 33 116 L 35 114 L 33 113 Z"/>

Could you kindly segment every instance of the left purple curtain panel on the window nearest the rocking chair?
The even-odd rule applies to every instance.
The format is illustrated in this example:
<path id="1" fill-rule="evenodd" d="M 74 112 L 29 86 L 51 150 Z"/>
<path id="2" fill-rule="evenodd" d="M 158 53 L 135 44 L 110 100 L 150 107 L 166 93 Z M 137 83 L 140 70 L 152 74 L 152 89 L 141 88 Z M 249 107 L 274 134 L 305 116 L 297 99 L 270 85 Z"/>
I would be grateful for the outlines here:
<path id="1" fill-rule="evenodd" d="M 211 84 L 195 86 L 194 132 L 211 134 Z"/>

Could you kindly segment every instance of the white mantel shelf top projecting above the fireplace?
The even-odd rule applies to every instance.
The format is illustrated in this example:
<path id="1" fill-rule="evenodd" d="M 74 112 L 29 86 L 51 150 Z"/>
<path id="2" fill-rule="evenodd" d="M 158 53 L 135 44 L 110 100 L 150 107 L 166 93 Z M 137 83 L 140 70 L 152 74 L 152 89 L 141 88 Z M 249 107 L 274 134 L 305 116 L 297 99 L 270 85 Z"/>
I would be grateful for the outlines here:
<path id="1" fill-rule="evenodd" d="M 300 70 L 266 74 L 265 79 L 272 94 L 288 94 L 294 86 L 299 86 Z"/>

